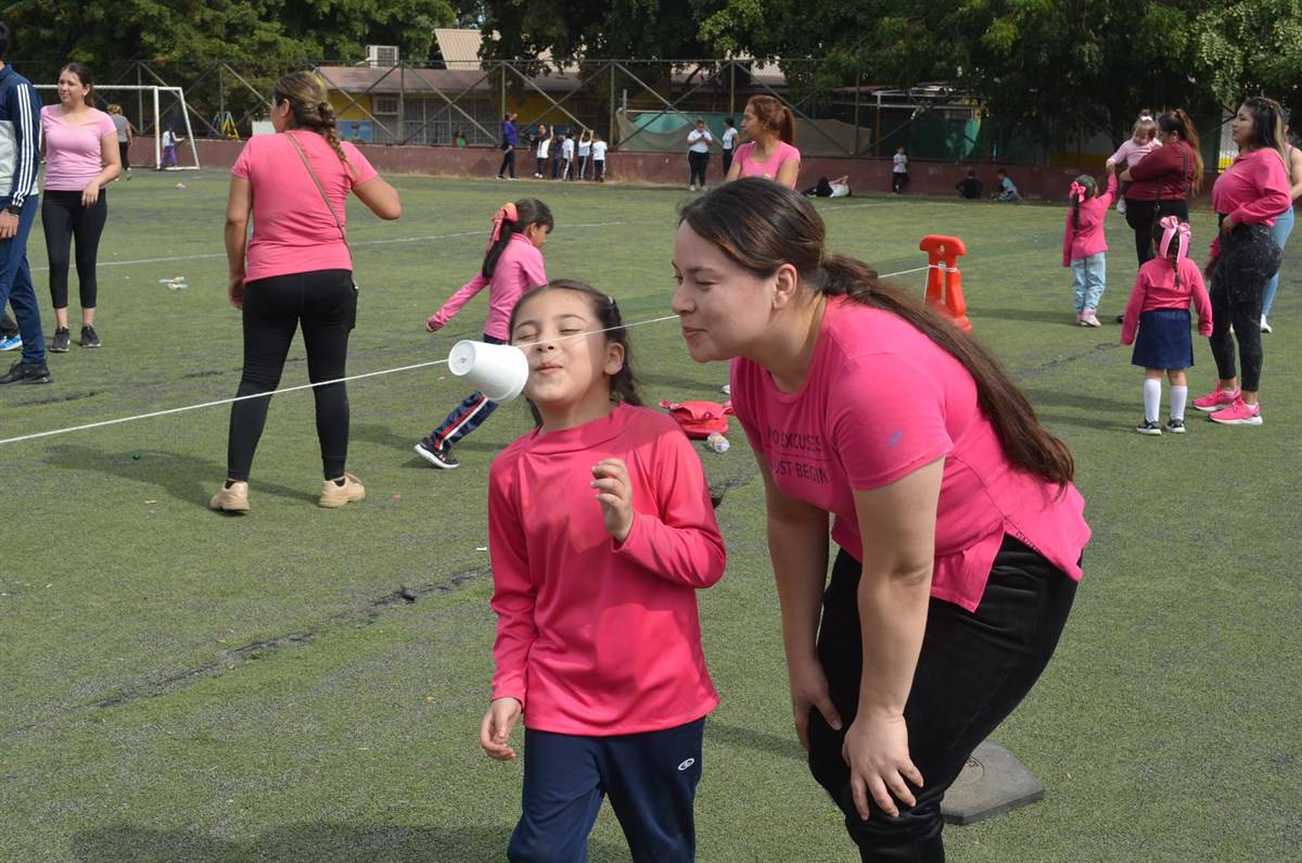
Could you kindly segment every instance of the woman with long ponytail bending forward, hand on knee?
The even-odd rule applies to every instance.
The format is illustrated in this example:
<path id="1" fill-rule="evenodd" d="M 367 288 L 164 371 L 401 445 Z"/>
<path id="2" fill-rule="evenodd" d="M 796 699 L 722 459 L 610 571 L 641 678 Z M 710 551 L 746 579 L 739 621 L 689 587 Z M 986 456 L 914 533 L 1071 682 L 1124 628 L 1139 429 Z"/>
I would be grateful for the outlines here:
<path id="1" fill-rule="evenodd" d="M 1090 529 L 990 352 L 824 237 L 803 197 L 729 183 L 682 211 L 673 310 L 694 360 L 732 360 L 810 769 L 863 859 L 939 860 L 945 789 L 1052 656 Z"/>

